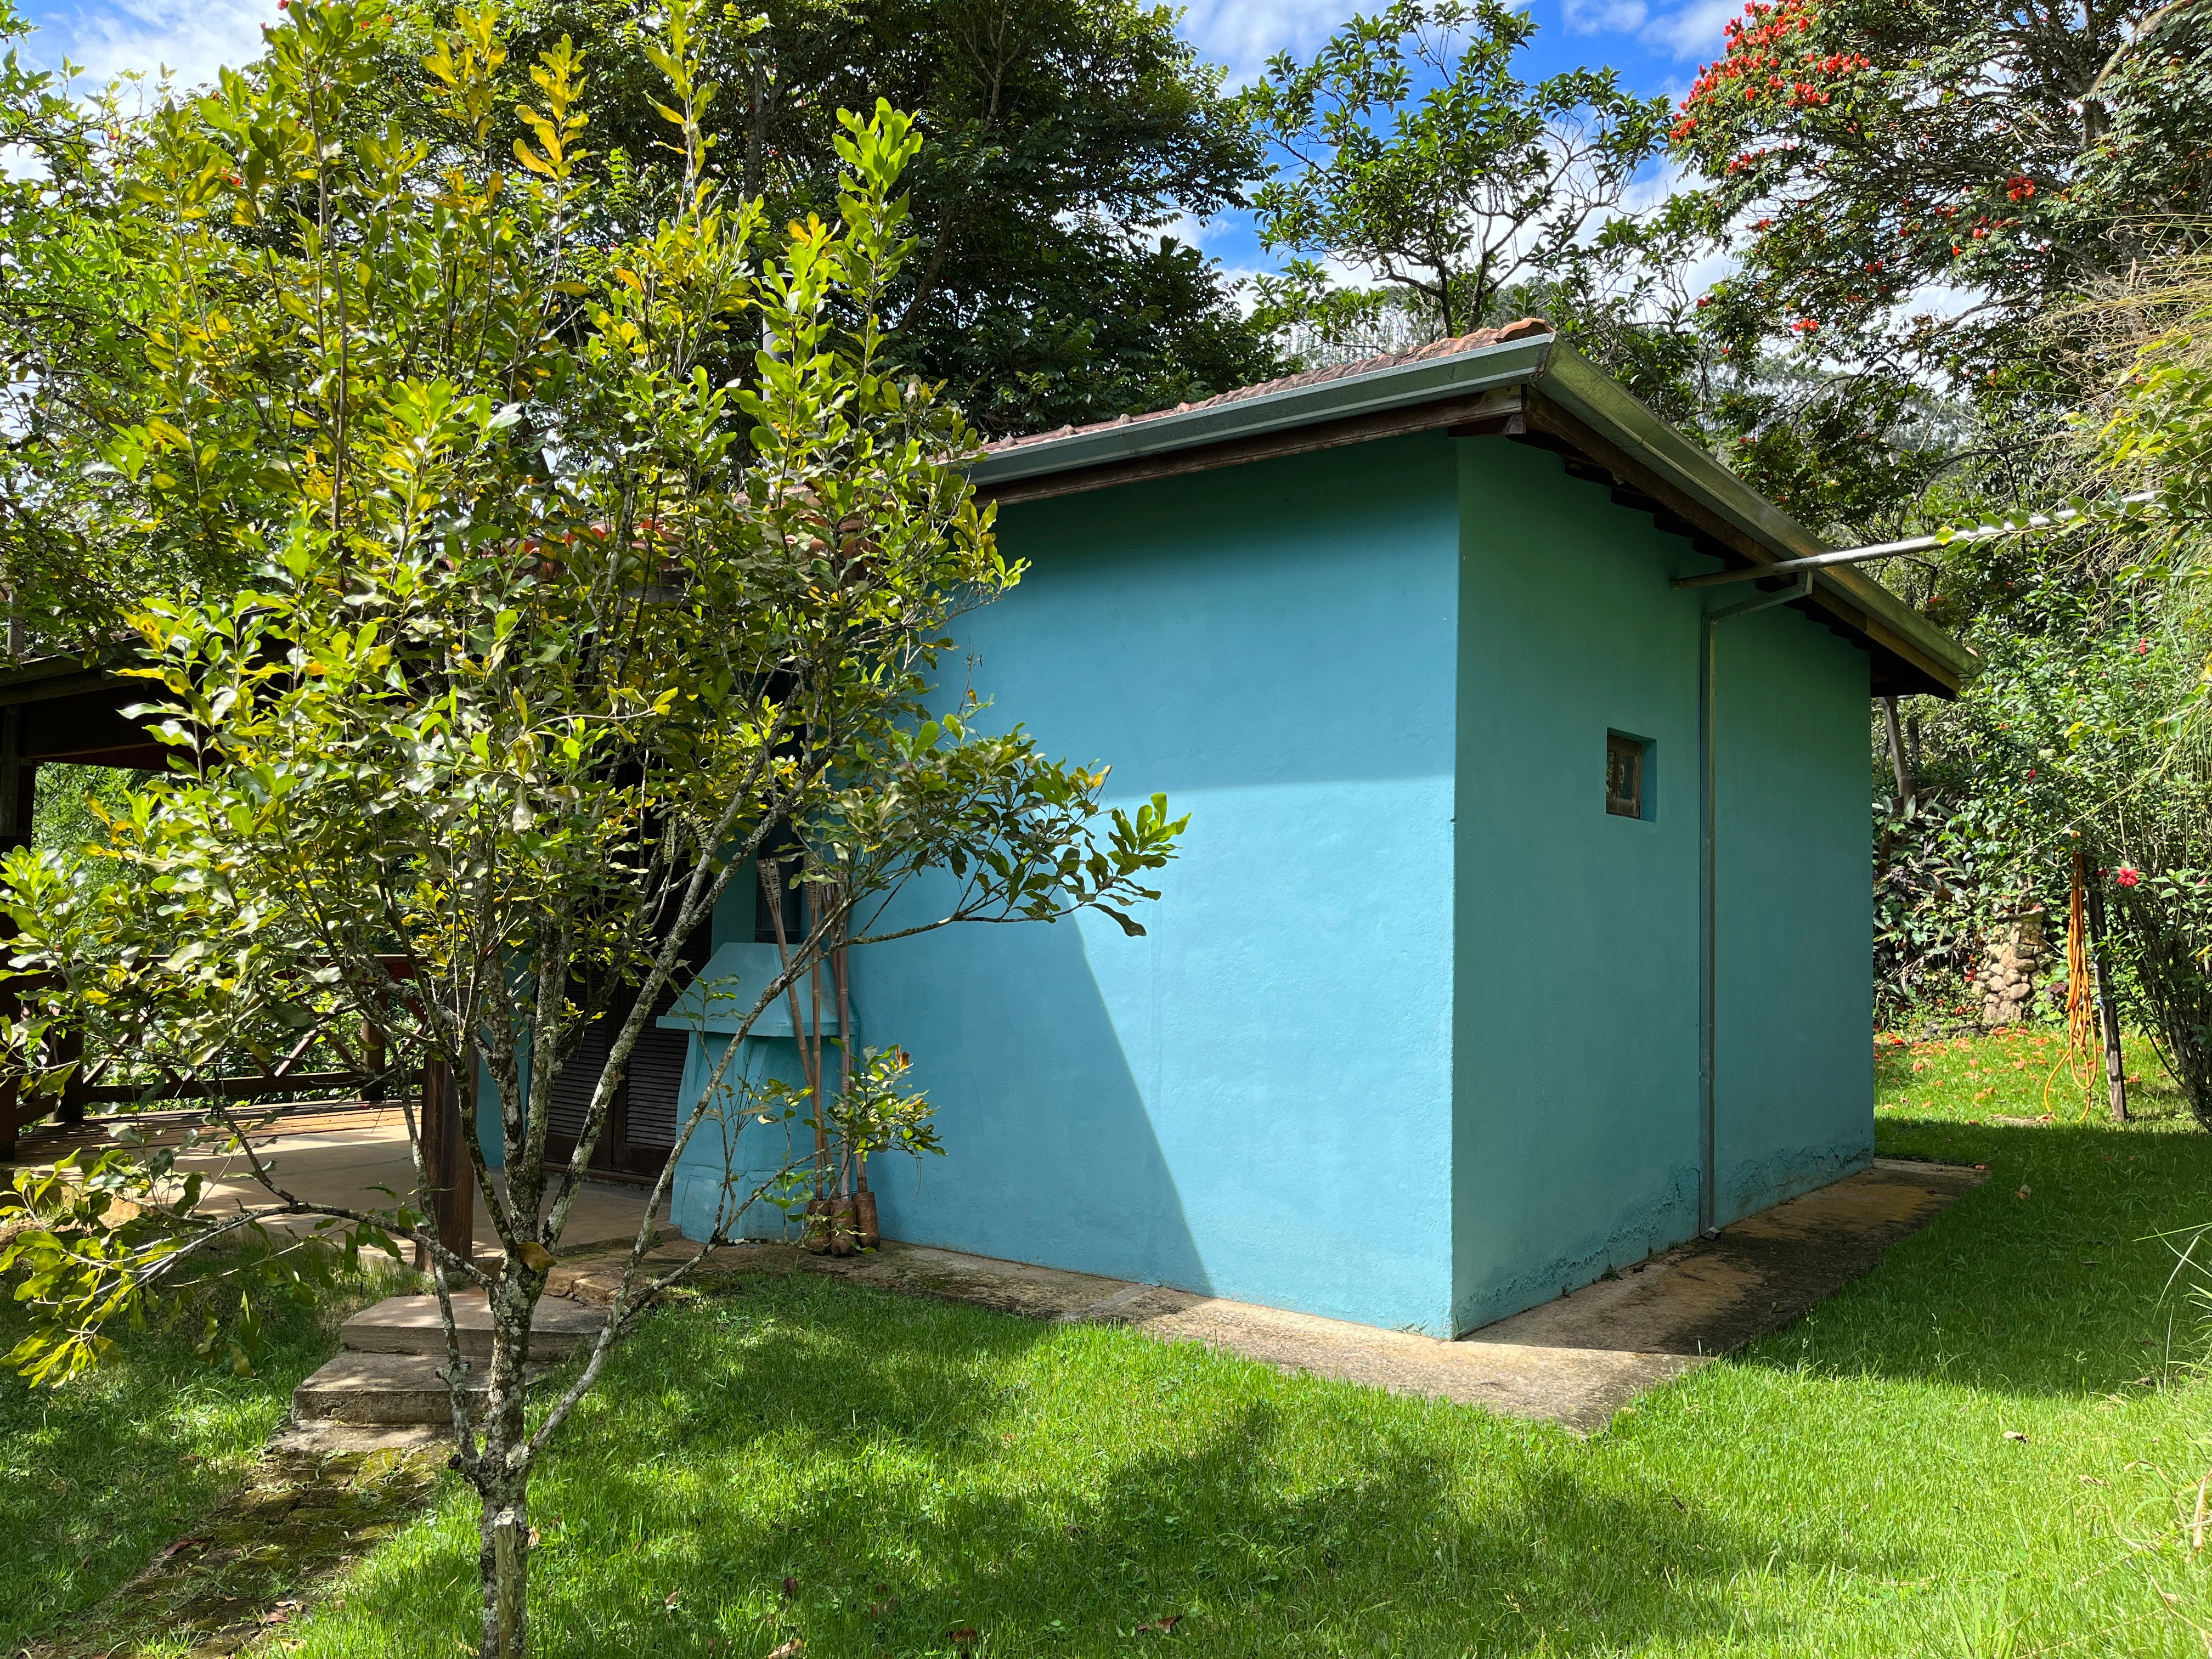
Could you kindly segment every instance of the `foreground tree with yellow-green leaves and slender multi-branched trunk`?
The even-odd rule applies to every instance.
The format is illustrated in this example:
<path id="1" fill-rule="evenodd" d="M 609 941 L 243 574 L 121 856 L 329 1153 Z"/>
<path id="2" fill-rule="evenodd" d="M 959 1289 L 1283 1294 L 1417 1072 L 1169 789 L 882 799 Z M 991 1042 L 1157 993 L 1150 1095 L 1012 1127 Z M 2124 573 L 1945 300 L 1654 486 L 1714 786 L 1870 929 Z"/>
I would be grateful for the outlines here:
<path id="1" fill-rule="evenodd" d="M 204 1139 L 265 1201 L 208 1212 L 179 1148 L 124 1144 L 18 1179 L 0 1270 L 33 1316 L 15 1365 L 58 1380 L 115 1321 L 239 1270 L 230 1241 L 265 1241 L 250 1259 L 274 1270 L 312 1250 L 288 1225 L 411 1241 L 445 1310 L 453 1469 L 480 1498 L 487 1659 L 526 1650 L 531 1473 L 611 1347 L 748 1206 L 805 1194 L 790 1168 L 732 1186 L 761 1164 L 739 1146 L 763 1117 L 836 1121 L 825 1091 L 730 1068 L 754 1020 L 889 936 L 1082 909 L 1137 933 L 1181 832 L 1164 799 L 1108 812 L 1102 770 L 938 690 L 953 622 L 1020 568 L 969 491 L 973 431 L 878 321 L 916 252 L 898 188 L 920 135 L 887 104 L 845 115 L 834 217 L 770 234 L 719 175 L 699 20 L 672 0 L 641 46 L 681 188 L 630 237 L 604 234 L 622 204 L 582 166 L 584 60 L 566 40 L 511 58 L 493 4 L 427 49 L 440 91 L 418 126 L 354 119 L 396 27 L 365 0 L 294 7 L 257 64 L 155 115 L 128 190 L 177 248 L 100 513 L 254 577 L 135 613 L 175 765 L 95 849 L 128 880 L 38 849 L 4 865 L 18 1055 L 60 1024 L 197 1079 L 305 1009 L 458 1079 L 489 1254 L 398 1203 L 301 1199 L 219 1104 Z M 524 131 L 502 144 L 509 113 Z M 708 372 L 739 349 L 745 380 Z M 807 922 L 772 978 L 708 989 L 737 1035 L 679 1110 L 584 1365 L 533 1422 L 531 1316 L 584 1170 L 686 942 L 757 863 L 810 894 Z M 606 1064 L 555 1159 L 553 1082 L 593 1031 Z M 896 1066 L 860 1071 L 847 1126 L 927 1148 Z M 648 1272 L 695 1144 L 721 1148 L 721 1212 Z M 453 1312 L 471 1292 L 493 1325 L 480 1422 Z"/>

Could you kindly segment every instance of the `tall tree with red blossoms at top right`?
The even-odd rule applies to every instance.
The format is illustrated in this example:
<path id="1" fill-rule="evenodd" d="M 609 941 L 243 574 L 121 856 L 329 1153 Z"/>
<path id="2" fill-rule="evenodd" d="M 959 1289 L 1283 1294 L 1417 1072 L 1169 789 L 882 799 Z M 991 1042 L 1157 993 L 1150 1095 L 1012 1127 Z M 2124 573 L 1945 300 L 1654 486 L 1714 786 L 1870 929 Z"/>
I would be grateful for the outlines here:
<path id="1" fill-rule="evenodd" d="M 1670 131 L 1703 175 L 1686 210 L 1741 257 L 1701 319 L 1736 363 L 1805 365 L 1736 411 L 1743 471 L 1871 529 L 1986 442 L 1971 405 L 2042 425 L 2079 398 L 2039 319 L 2212 184 L 2199 11 L 1752 0 L 1728 24 Z"/>

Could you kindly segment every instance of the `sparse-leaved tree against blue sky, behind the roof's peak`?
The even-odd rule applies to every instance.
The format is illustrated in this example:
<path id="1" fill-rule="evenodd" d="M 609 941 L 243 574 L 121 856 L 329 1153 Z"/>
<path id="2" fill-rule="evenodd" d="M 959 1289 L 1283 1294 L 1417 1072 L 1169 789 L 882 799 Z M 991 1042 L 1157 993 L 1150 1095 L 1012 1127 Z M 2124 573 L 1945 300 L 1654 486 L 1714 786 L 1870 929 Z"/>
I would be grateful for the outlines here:
<path id="1" fill-rule="evenodd" d="M 1657 153 L 1666 100 L 1628 95 L 1610 69 L 1524 82 L 1513 60 L 1533 33 L 1500 0 L 1394 0 L 1310 64 L 1272 58 L 1243 100 L 1283 157 L 1252 201 L 1261 243 L 1371 270 L 1442 336 L 1491 321 L 1515 281 L 1590 257 L 1584 232 Z M 1265 323 L 1325 332 L 1389 303 L 1338 290 L 1314 259 L 1256 292 Z"/>

